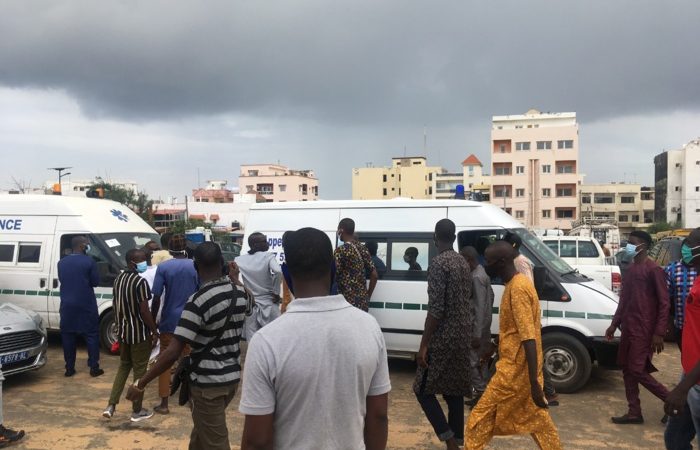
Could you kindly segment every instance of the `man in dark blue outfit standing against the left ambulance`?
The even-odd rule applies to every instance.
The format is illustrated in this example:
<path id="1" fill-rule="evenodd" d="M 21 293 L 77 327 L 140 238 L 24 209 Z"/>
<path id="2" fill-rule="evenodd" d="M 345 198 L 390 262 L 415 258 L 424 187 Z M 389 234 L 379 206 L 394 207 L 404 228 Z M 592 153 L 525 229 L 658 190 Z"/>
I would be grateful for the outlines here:
<path id="1" fill-rule="evenodd" d="M 94 288 L 100 282 L 95 261 L 86 255 L 90 244 L 85 236 L 71 240 L 73 253 L 58 262 L 58 280 L 61 282 L 61 343 L 66 362 L 65 376 L 75 375 L 75 341 L 78 336 L 85 339 L 88 347 L 90 375 L 99 377 L 100 336 L 97 314 L 97 299 Z"/>

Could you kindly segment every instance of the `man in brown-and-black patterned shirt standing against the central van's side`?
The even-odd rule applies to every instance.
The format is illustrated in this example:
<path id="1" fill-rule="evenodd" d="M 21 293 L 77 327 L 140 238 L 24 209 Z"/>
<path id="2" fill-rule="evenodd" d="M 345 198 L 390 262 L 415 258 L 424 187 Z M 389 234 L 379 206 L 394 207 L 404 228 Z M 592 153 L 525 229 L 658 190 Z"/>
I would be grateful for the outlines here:
<path id="1" fill-rule="evenodd" d="M 367 248 L 355 239 L 355 221 L 345 218 L 338 224 L 335 258 L 338 293 L 351 305 L 369 311 L 369 299 L 377 285 L 377 269 Z M 365 273 L 369 272 L 369 287 Z"/>

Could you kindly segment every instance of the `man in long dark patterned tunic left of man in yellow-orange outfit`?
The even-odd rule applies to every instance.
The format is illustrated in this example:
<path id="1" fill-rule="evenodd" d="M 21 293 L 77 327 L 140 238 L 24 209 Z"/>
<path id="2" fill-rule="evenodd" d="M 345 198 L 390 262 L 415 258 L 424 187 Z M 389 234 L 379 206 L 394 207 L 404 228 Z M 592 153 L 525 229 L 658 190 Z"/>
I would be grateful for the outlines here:
<path id="1" fill-rule="evenodd" d="M 434 239 L 438 255 L 428 266 L 428 311 L 413 392 L 435 434 L 455 450 L 464 445 L 464 397 L 471 394 L 471 276 L 469 265 L 453 249 L 454 222 L 438 221 Z M 447 419 L 437 395 L 447 403 Z"/>

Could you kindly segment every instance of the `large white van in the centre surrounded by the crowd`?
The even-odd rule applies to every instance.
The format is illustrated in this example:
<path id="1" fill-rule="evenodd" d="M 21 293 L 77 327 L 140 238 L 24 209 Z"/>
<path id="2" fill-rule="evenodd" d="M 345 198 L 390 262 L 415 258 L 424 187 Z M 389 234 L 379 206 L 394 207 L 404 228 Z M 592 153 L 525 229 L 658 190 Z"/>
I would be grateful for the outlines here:
<path id="1" fill-rule="evenodd" d="M 338 222 L 355 221 L 363 242 L 375 241 L 387 271 L 370 299 L 372 314 L 394 357 L 414 357 L 418 351 L 428 307 L 427 268 L 436 255 L 433 230 L 438 220 L 449 218 L 457 226 L 455 250 L 471 245 L 483 254 L 485 247 L 507 231 L 523 241 L 522 253 L 535 264 L 536 284 L 542 302 L 542 333 L 546 367 L 561 392 L 580 389 L 590 377 L 594 361 L 614 366 L 617 344 L 605 341 L 617 297 L 598 282 L 581 275 L 542 241 L 500 208 L 457 200 L 371 200 L 261 203 L 251 207 L 246 225 L 267 235 L 270 251 L 284 260 L 282 234 L 287 230 L 315 227 L 336 242 Z M 418 250 L 422 270 L 408 270 L 403 255 Z M 504 287 L 494 282 L 496 294 L 491 332 L 498 333 L 498 307 Z"/>

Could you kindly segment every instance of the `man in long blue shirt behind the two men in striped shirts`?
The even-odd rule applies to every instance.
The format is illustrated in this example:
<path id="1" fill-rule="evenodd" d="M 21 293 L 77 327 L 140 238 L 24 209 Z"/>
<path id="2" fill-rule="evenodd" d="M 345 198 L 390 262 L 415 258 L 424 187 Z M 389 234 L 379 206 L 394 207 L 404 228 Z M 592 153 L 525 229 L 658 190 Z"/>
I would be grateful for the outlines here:
<path id="1" fill-rule="evenodd" d="M 182 310 L 187 299 L 197 292 L 199 279 L 194 263 L 187 259 L 187 242 L 184 234 L 176 234 L 170 239 L 170 254 L 173 259 L 163 261 L 158 265 L 156 278 L 153 281 L 153 304 L 151 314 L 158 317 L 160 308 L 160 297 L 165 291 L 163 301 L 163 311 L 158 324 L 160 332 L 160 355 L 167 349 L 173 339 L 175 327 L 180 321 Z M 186 350 L 187 351 L 187 350 Z M 155 412 L 168 414 L 168 396 L 170 395 L 170 370 L 163 372 L 158 378 L 158 395 L 160 405 L 156 406 Z"/>

